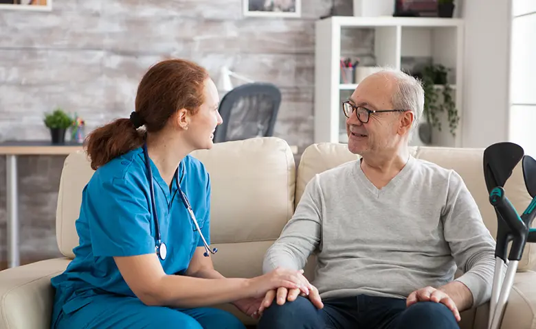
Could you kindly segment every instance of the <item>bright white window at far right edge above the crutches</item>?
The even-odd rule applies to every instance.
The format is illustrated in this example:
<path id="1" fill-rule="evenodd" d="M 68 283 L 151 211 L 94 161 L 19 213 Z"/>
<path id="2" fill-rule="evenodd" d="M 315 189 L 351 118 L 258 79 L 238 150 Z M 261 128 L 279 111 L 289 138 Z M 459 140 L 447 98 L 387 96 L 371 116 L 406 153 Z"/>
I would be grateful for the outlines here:
<path id="1" fill-rule="evenodd" d="M 512 14 L 509 139 L 536 158 L 536 1 L 514 0 Z"/>

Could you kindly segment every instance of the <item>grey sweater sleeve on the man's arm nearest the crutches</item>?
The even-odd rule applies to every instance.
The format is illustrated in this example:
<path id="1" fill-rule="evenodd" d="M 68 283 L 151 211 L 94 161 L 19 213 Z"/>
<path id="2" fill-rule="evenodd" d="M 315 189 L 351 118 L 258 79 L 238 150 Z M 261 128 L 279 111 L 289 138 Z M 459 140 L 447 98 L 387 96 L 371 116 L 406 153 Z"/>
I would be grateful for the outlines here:
<path id="1" fill-rule="evenodd" d="M 495 240 L 482 221 L 480 210 L 465 182 L 451 171 L 447 202 L 443 210 L 445 240 L 458 268 L 456 280 L 469 288 L 473 306 L 488 302 L 495 269 Z"/>

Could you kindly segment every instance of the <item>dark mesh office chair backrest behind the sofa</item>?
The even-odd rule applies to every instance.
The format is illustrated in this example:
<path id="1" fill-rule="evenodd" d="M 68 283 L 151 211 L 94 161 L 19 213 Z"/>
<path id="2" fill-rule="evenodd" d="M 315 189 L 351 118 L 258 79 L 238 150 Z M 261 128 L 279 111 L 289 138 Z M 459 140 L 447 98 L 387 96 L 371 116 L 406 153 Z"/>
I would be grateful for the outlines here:
<path id="1" fill-rule="evenodd" d="M 274 84 L 243 84 L 225 94 L 219 112 L 223 123 L 216 127 L 214 142 L 273 136 L 281 92 Z"/>

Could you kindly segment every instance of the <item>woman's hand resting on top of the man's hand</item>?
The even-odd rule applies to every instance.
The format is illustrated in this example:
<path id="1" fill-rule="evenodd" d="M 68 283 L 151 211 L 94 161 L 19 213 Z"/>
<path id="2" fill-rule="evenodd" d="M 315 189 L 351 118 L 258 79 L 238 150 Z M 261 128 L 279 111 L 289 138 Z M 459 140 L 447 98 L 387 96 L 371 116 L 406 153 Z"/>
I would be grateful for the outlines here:
<path id="1" fill-rule="evenodd" d="M 287 289 L 300 289 L 305 295 L 309 295 L 311 284 L 302 276 L 303 270 L 295 271 L 278 267 L 263 276 L 249 279 L 250 295 L 254 298 L 265 297 L 267 291 L 284 287 Z"/>

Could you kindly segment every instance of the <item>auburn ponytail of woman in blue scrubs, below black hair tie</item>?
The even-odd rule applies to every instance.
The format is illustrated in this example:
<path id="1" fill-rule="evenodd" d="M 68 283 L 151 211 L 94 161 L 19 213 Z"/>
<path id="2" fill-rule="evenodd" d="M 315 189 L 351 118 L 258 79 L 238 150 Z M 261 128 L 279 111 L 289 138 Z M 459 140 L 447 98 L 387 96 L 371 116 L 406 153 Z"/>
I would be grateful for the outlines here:
<path id="1" fill-rule="evenodd" d="M 85 139 L 85 149 L 91 160 L 91 169 L 107 164 L 113 158 L 141 147 L 144 132 L 137 130 L 131 119 L 116 119 L 98 127 Z"/>

